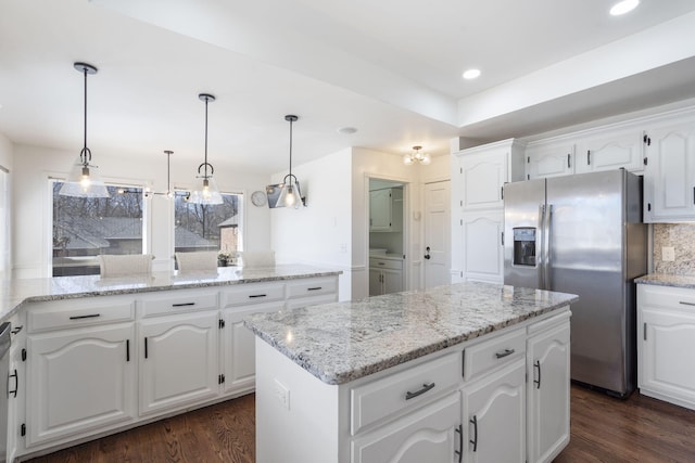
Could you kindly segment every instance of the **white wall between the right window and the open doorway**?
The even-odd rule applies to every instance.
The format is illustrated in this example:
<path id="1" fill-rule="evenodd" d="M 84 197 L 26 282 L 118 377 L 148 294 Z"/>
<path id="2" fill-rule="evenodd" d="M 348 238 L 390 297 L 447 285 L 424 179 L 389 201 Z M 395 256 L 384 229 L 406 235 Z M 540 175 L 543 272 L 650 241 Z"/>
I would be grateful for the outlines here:
<path id="1" fill-rule="evenodd" d="M 342 270 L 341 300 L 350 299 L 352 280 L 351 155 L 352 150 L 346 149 L 293 167 L 307 207 L 270 211 L 270 243 L 276 260 Z M 274 183 L 280 183 L 285 175 L 275 175 Z"/>

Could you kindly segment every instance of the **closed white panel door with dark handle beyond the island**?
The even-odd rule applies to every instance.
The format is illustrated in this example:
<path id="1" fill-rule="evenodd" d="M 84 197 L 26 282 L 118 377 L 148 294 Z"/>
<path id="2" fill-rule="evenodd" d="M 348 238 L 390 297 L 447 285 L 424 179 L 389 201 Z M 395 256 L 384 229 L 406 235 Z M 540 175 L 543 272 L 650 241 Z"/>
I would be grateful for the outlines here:
<path id="1" fill-rule="evenodd" d="M 451 184 L 425 185 L 425 287 L 451 282 Z"/>

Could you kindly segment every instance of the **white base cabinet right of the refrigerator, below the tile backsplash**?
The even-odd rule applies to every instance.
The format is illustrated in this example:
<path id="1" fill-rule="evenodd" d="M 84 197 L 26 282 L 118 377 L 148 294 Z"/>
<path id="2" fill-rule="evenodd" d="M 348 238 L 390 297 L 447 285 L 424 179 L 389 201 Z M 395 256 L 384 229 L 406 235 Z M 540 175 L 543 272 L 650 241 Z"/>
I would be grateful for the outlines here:
<path id="1" fill-rule="evenodd" d="M 695 410 L 695 290 L 637 285 L 640 393 Z"/>

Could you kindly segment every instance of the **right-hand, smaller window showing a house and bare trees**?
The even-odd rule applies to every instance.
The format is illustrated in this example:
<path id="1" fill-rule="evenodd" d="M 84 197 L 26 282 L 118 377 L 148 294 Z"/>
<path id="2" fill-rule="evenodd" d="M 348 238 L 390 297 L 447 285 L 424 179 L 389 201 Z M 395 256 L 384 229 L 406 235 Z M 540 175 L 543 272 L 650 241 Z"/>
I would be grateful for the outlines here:
<path id="1" fill-rule="evenodd" d="M 219 250 L 233 261 L 242 249 L 242 194 L 223 193 L 224 203 L 202 205 L 187 203 L 176 195 L 174 205 L 174 249 L 176 253 Z M 220 265 L 225 265 L 220 259 Z"/>

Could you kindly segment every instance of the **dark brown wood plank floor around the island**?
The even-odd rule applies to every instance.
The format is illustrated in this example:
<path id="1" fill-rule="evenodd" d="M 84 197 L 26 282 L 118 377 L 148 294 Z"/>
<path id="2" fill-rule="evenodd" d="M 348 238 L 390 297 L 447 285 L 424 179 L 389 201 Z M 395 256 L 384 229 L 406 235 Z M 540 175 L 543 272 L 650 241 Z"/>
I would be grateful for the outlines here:
<path id="1" fill-rule="evenodd" d="M 31 462 L 251 463 L 254 407 L 255 397 L 244 396 Z M 640 394 L 623 401 L 580 386 L 572 386 L 571 410 L 570 445 L 555 463 L 695 462 L 695 411 Z"/>

